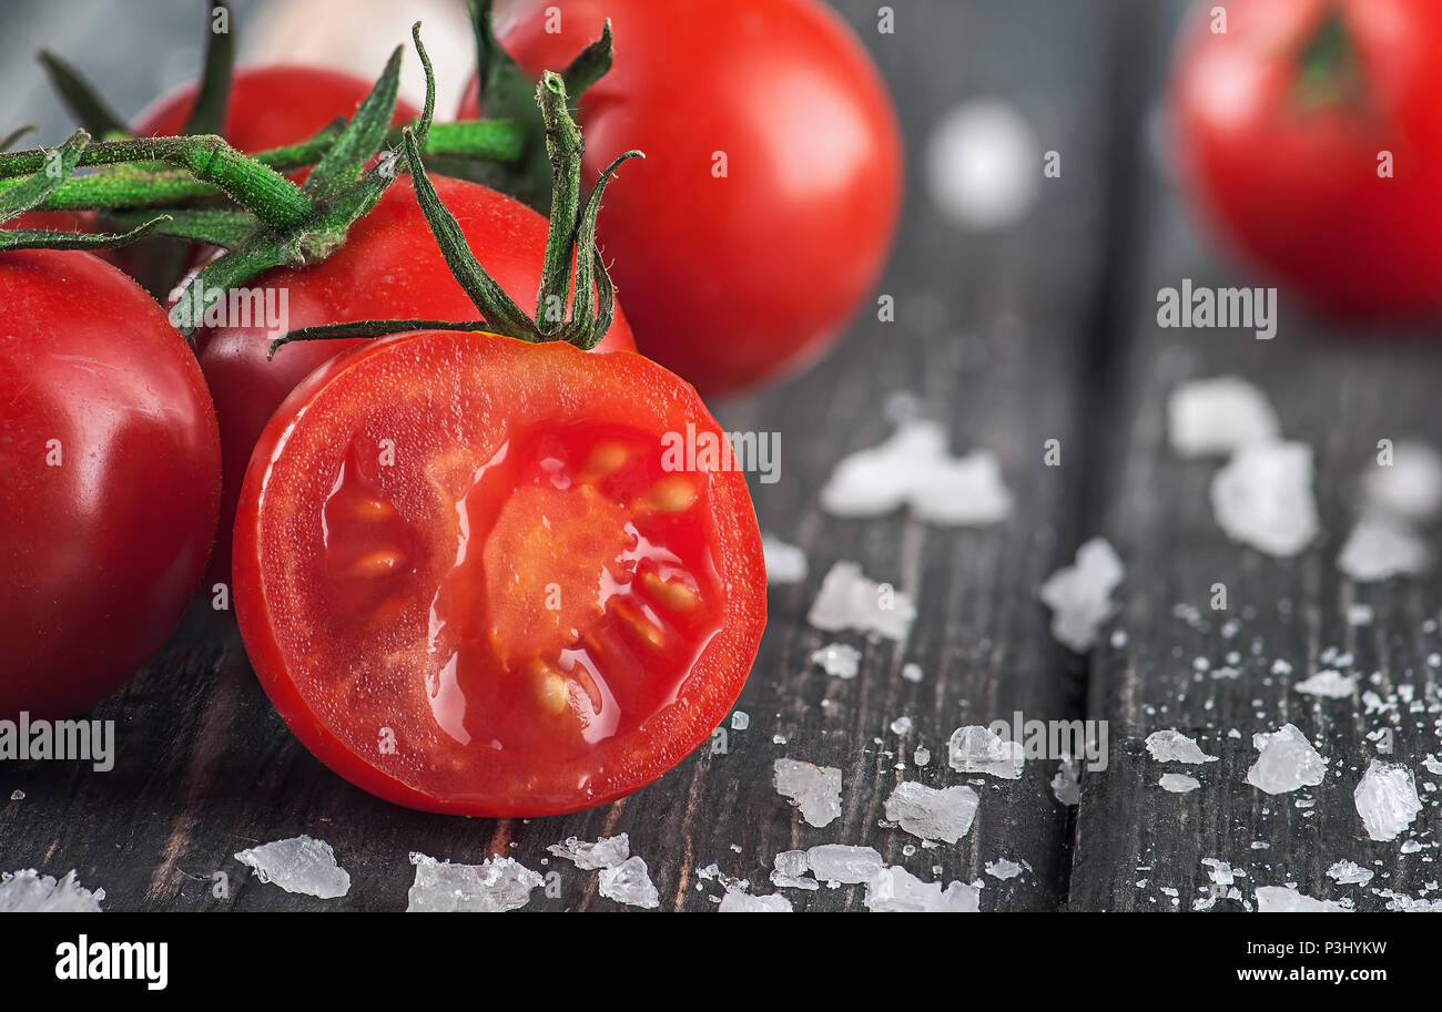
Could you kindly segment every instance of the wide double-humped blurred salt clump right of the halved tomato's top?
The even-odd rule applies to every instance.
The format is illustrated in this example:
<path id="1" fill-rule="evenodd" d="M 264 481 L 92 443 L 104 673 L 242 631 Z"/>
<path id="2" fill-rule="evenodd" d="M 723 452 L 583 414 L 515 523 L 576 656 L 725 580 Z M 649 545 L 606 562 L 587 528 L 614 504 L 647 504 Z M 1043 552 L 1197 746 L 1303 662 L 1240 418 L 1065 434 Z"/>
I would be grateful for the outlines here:
<path id="1" fill-rule="evenodd" d="M 880 445 L 842 457 L 820 490 L 820 507 L 832 516 L 885 516 L 901 506 L 937 526 L 985 526 L 1011 512 L 1011 493 L 995 456 L 953 457 L 946 430 L 917 418 Z"/>

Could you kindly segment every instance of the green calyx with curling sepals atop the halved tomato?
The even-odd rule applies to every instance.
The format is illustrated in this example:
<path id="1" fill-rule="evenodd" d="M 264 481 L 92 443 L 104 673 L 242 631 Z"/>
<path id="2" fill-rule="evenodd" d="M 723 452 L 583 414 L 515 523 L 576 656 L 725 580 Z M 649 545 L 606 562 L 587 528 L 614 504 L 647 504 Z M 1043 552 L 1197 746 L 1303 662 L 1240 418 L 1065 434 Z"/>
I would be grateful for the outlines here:
<path id="1" fill-rule="evenodd" d="M 441 203 L 421 160 L 417 137 L 405 130 L 405 160 L 431 234 L 440 245 L 456 281 L 474 303 L 482 319 L 457 323 L 447 320 L 360 320 L 293 330 L 274 343 L 270 355 L 293 340 L 330 340 L 335 337 L 379 337 L 408 330 L 489 330 L 529 342 L 561 340 L 583 350 L 596 347 L 616 317 L 616 288 L 596 247 L 596 221 L 606 187 L 630 159 L 645 157 L 626 151 L 601 173 L 585 203 L 581 203 L 581 156 L 584 141 L 571 118 L 565 81 L 547 72 L 535 89 L 552 179 L 552 215 L 547 235 L 545 267 L 536 294 L 535 316 L 528 316 L 496 284 L 472 254 L 456 218 Z M 572 270 L 574 264 L 574 270 Z M 574 274 L 574 277 L 572 277 Z M 572 297 L 574 293 L 574 297 Z"/>

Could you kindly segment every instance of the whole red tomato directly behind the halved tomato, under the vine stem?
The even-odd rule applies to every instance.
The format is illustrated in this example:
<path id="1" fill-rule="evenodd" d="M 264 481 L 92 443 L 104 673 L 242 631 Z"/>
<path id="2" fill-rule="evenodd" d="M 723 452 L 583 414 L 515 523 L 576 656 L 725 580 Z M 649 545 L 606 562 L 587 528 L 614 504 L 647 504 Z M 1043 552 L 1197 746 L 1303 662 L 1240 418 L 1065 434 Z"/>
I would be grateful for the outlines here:
<path id="1" fill-rule="evenodd" d="M 547 219 L 476 183 L 441 176 L 433 176 L 431 182 L 490 277 L 519 306 L 532 309 L 541 287 Z M 329 259 L 303 270 L 270 271 L 247 287 L 286 293 L 287 329 L 348 320 L 477 319 L 476 306 L 446 267 L 410 177 L 391 186 L 375 209 L 350 228 L 346 244 Z M 297 342 L 267 360 L 267 350 L 278 336 L 255 321 L 198 334 L 200 368 L 221 420 L 225 461 L 221 531 L 209 571 L 218 581 L 229 580 L 235 500 L 251 448 L 265 422 L 307 373 L 363 340 Z M 617 310 L 616 321 L 596 350 L 630 347 L 634 347 L 630 327 Z"/>

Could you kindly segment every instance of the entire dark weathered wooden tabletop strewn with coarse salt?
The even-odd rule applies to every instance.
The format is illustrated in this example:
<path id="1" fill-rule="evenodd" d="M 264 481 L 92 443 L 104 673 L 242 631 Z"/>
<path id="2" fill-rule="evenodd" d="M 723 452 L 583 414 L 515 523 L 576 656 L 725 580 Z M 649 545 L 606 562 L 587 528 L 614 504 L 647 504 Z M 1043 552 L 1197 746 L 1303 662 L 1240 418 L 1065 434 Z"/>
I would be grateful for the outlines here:
<path id="1" fill-rule="evenodd" d="M 672 910 L 714 908 L 721 887 L 698 882 L 698 868 L 715 862 L 764 892 L 779 851 L 825 842 L 874 846 L 927 881 L 981 878 L 983 911 L 1190 910 L 1207 895 L 1204 858 L 1244 872 L 1237 885 L 1249 904 L 1255 887 L 1289 882 L 1315 897 L 1351 897 L 1360 910 L 1386 905 L 1374 889 L 1438 895 L 1428 884 L 1439 878 L 1439 796 L 1423 793 L 1423 815 L 1403 839 L 1425 846 L 1403 853 L 1400 839 L 1367 839 L 1351 790 L 1376 754 L 1367 735 L 1379 728 L 1394 732 L 1390 758 L 1407 761 L 1419 783 L 1429 778 L 1422 757 L 1442 754 L 1442 685 L 1428 660 L 1442 652 L 1442 637 L 1426 624 L 1442 603 L 1442 575 L 1357 587 L 1338 574 L 1335 554 L 1354 516 L 1355 476 L 1377 440 L 1442 443 L 1432 389 L 1442 345 L 1337 334 L 1285 294 L 1272 342 L 1156 327 L 1159 287 L 1184 277 L 1250 283 L 1198 236 L 1151 140 L 1178 4 L 904 0 L 894 4 L 895 35 L 877 35 L 870 0 L 838 6 L 891 84 L 908 141 L 906 216 L 880 285 L 898 314 L 894 323 L 864 314 L 808 375 L 715 405 L 727 428 L 782 432 L 782 480 L 753 484 L 756 507 L 763 529 L 805 548 L 810 564 L 803 584 L 771 590 L 770 626 L 738 701 L 750 728 L 730 732 L 727 753 L 701 750 L 637 794 L 568 817 L 408 812 L 352 787 L 300 747 L 251 675 L 231 618 L 198 603 L 154 662 L 94 714 L 118 721 L 114 771 L 0 765 L 0 866 L 56 875 L 75 868 L 82 882 L 105 888 L 110 910 L 402 910 L 408 852 L 472 864 L 502 853 L 562 875 L 561 895 L 538 889 L 529 910 L 604 910 L 616 904 L 597 895 L 594 874 L 541 861 L 547 845 L 567 836 L 627 832 L 662 908 Z M 94 4 L 112 19 L 114 7 Z M 151 14 L 167 20 L 156 12 L 134 19 Z M 190 26 L 174 20 L 160 30 L 189 40 Z M 19 79 L 14 61 L 26 49 L 45 42 L 74 53 L 107 30 L 101 16 L 87 23 L 36 14 L 32 23 L 71 37 L 7 33 L 0 81 Z M 112 69 L 138 105 L 150 82 L 134 66 Z M 930 127 L 978 95 L 1014 104 L 1041 147 L 1063 156 L 1061 176 L 1044 182 L 1031 212 L 996 234 L 943 222 L 923 180 Z M 22 117 L 56 121 L 36 89 L 25 102 Z M 1268 391 L 1285 432 L 1317 448 L 1324 536 L 1295 561 L 1230 542 L 1207 500 L 1213 467 L 1180 461 L 1167 445 L 1167 392 L 1180 379 L 1223 372 Z M 919 394 L 957 450 L 999 457 L 1017 500 L 1008 520 L 939 529 L 900 515 L 838 520 L 819 510 L 818 489 L 835 461 L 888 434 L 881 405 L 894 391 Z M 1053 438 L 1061 441 L 1060 467 L 1043 463 Z M 1093 535 L 1110 539 L 1126 565 L 1109 627 L 1126 636 L 1079 657 L 1051 639 L 1035 591 Z M 908 643 L 872 644 L 806 624 L 822 575 L 844 558 L 916 598 Z M 1230 590 L 1226 614 L 1208 608 L 1217 581 Z M 1371 626 L 1348 623 L 1354 601 L 1374 605 Z M 1203 620 L 1178 618 L 1178 605 Z M 1227 618 L 1240 623 L 1230 640 L 1220 631 Z M 862 649 L 859 678 L 829 679 L 810 663 L 812 650 L 833 639 Z M 1387 695 L 1412 685 L 1433 712 L 1368 716 L 1357 701 L 1298 695 L 1291 686 L 1325 666 L 1328 646 L 1353 654 L 1347 673 L 1360 673 L 1363 688 Z M 1220 665 L 1230 649 L 1243 653 L 1240 678 L 1198 678 L 1195 657 Z M 1270 673 L 1276 657 L 1292 665 L 1291 676 Z M 921 666 L 920 683 L 901 678 L 906 662 Z M 1034 761 L 1019 780 L 985 778 L 976 825 L 955 846 L 908 852 L 919 840 L 878 825 L 904 778 L 975 781 L 946 768 L 947 737 L 1018 711 L 1109 722 L 1110 765 L 1083 777 L 1080 806 L 1053 797 L 1056 763 Z M 898 738 L 888 725 L 903 715 L 914 729 Z M 1317 738 L 1331 765 L 1321 787 L 1269 797 L 1244 781 L 1256 755 L 1250 740 L 1286 721 Z M 1187 768 L 1203 783 L 1188 794 L 1156 786 L 1161 767 L 1142 747 L 1151 731 L 1172 727 L 1221 757 Z M 919 744 L 932 750 L 932 764 L 897 771 Z M 825 829 L 799 820 L 771 786 L 779 757 L 842 770 L 839 820 Z M 6 800 L 16 789 L 25 799 Z M 1315 806 L 1299 807 L 1298 799 Z M 262 885 L 231 856 L 297 833 L 335 846 L 352 875 L 345 898 Z M 1024 862 L 1022 874 L 985 875 L 1001 858 Z M 1371 887 L 1328 879 L 1340 859 L 1374 871 Z M 231 879 L 225 900 L 211 891 L 216 871 Z M 789 895 L 797 910 L 864 908 L 864 887 Z M 1211 908 L 1242 907 L 1221 900 Z"/>

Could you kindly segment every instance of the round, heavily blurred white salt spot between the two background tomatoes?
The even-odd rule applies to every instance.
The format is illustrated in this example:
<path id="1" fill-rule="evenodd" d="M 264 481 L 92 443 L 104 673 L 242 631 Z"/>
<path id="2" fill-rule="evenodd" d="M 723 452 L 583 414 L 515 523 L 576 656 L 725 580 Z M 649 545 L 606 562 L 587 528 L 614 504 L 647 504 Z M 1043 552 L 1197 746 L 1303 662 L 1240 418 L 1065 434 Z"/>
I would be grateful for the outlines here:
<path id="1" fill-rule="evenodd" d="M 1011 225 L 1041 187 L 1041 146 L 1031 124 L 999 98 L 947 111 L 926 146 L 932 202 L 955 225 L 985 232 Z"/>

